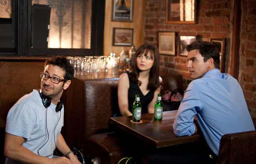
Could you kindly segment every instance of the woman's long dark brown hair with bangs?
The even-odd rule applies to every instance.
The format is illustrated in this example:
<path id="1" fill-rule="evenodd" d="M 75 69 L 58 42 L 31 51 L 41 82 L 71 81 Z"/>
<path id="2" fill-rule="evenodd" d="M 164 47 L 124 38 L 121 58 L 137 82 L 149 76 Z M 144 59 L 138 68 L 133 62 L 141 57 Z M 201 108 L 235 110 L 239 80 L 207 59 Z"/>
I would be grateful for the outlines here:
<path id="1" fill-rule="evenodd" d="M 148 53 L 150 53 L 150 57 L 152 58 L 152 60 L 154 59 L 153 66 L 151 67 L 150 73 L 149 73 L 147 88 L 155 90 L 161 85 L 159 82 L 159 51 L 156 46 L 145 43 L 138 48 L 138 50 L 134 54 L 133 66 L 131 67 L 132 71 L 128 75 L 132 83 L 141 85 L 141 81 L 138 80 L 140 69 L 138 68 L 138 65 L 137 65 L 137 57 L 138 55 L 140 54 L 142 55 L 143 53 L 145 56 Z"/>

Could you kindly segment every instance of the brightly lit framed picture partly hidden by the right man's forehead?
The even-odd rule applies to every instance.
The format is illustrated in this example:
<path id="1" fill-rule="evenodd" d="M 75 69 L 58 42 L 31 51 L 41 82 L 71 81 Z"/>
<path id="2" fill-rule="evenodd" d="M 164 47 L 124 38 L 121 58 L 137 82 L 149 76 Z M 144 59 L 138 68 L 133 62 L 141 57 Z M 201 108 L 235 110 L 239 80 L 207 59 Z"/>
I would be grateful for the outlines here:
<path id="1" fill-rule="evenodd" d="M 182 56 L 188 56 L 187 45 L 191 44 L 193 41 L 196 41 L 196 35 L 182 35 L 179 36 L 179 54 Z"/>

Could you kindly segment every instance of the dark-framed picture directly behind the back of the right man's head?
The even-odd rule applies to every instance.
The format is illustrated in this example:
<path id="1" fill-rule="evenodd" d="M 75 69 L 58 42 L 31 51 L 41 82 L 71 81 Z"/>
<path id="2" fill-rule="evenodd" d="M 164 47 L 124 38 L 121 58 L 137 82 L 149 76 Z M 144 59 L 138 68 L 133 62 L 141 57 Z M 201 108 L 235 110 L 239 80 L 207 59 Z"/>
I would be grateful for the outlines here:
<path id="1" fill-rule="evenodd" d="M 225 63 L 225 38 L 210 37 L 210 43 L 215 45 L 220 52 L 220 72 L 224 73 L 224 63 Z"/>

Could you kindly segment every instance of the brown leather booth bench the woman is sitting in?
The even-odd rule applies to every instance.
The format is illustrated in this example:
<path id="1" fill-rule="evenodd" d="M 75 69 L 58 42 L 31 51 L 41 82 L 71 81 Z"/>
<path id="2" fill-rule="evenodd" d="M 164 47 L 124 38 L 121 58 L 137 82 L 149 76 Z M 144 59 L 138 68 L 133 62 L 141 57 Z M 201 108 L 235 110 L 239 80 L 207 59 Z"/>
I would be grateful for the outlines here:
<path id="1" fill-rule="evenodd" d="M 119 75 L 108 78 L 75 77 L 64 91 L 64 127 L 62 134 L 69 146 L 83 149 L 104 164 L 117 164 L 129 152 L 124 141 L 116 138 L 110 118 L 119 111 L 117 87 Z M 162 91 L 183 88 L 182 75 L 165 74 Z"/>

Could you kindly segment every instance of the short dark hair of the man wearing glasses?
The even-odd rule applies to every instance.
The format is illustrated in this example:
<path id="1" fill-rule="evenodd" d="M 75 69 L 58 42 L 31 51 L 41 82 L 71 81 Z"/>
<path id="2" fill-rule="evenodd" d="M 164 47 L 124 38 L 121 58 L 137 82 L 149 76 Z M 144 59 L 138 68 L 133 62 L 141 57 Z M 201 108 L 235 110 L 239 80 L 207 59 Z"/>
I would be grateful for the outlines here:
<path id="1" fill-rule="evenodd" d="M 74 77 L 74 67 L 69 63 L 68 59 L 63 56 L 54 56 L 49 59 L 47 59 L 44 63 L 44 67 L 46 65 L 56 65 L 60 68 L 62 68 L 65 71 L 64 75 L 64 81 L 72 80 Z"/>

